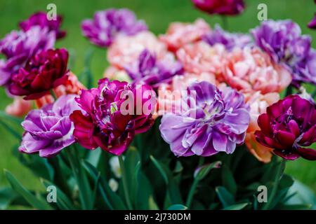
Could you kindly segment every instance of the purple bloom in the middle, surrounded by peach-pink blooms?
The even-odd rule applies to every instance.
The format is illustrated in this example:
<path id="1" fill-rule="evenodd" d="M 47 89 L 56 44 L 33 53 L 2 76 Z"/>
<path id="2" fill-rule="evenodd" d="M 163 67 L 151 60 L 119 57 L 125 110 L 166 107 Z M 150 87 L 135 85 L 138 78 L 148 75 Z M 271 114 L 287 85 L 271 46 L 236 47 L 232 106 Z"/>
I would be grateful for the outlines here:
<path id="1" fill-rule="evenodd" d="M 169 57 L 171 56 L 171 57 Z M 143 50 L 138 61 L 125 68 L 134 83 L 146 83 L 158 87 L 161 83 L 169 83 L 173 76 L 183 74 L 183 66 L 168 55 L 157 61 L 149 50 Z"/>

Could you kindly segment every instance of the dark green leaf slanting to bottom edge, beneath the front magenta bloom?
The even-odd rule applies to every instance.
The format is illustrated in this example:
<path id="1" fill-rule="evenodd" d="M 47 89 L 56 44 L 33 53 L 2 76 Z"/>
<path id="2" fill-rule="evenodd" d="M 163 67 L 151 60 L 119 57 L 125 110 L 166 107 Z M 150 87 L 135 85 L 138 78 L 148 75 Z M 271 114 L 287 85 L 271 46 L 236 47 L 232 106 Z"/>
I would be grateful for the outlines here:
<path id="1" fill-rule="evenodd" d="M 84 168 L 86 172 L 91 176 L 91 179 L 96 181 L 98 179 L 98 170 L 96 167 L 93 167 L 89 162 L 84 161 Z M 100 196 L 105 204 L 105 207 L 108 209 L 118 209 L 118 210 L 126 210 L 124 202 L 121 200 L 116 193 L 114 193 L 109 187 L 108 183 L 103 179 L 103 176 L 100 176 L 100 180 L 98 181 L 98 191 Z"/>

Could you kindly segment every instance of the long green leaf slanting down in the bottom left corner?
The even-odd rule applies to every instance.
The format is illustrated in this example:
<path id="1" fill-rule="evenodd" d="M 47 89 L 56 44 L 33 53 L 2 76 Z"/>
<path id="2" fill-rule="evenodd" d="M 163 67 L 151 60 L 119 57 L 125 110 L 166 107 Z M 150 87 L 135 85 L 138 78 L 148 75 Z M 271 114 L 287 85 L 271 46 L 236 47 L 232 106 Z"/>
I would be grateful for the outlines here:
<path id="1" fill-rule="evenodd" d="M 5 170 L 4 174 L 6 175 L 6 179 L 10 183 L 13 190 L 15 190 L 16 193 L 21 195 L 32 207 L 39 210 L 52 209 L 48 202 L 41 198 L 35 197 L 32 193 L 29 192 L 29 190 L 22 186 L 21 183 L 17 179 L 15 179 L 15 177 L 10 172 Z"/>

